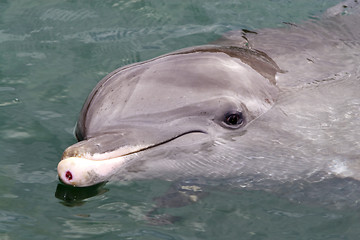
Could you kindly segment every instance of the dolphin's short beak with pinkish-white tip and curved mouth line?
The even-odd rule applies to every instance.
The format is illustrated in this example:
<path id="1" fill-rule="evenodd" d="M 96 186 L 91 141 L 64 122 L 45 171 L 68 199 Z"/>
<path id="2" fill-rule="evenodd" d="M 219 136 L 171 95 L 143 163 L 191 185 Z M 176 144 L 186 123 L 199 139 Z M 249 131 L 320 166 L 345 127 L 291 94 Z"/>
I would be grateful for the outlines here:
<path id="1" fill-rule="evenodd" d="M 190 134 L 208 134 L 203 130 L 187 131 L 173 137 L 150 143 L 144 139 L 117 143 L 123 133 L 110 133 L 80 141 L 68 147 L 58 164 L 60 180 L 68 185 L 87 187 L 108 181 L 138 153 L 179 140 Z M 149 139 L 149 138 L 148 138 Z M 116 147 L 117 145 L 117 147 Z"/>

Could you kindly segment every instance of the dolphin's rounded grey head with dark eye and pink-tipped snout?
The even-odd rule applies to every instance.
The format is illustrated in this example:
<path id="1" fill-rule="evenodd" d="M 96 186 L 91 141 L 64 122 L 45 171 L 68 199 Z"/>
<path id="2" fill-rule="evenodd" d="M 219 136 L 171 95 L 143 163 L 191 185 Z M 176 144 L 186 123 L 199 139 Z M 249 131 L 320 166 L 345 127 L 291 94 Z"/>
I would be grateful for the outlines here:
<path id="1" fill-rule="evenodd" d="M 190 166 L 216 139 L 243 135 L 272 107 L 279 71 L 263 52 L 213 45 L 117 69 L 87 98 L 59 177 L 89 186 L 184 176 L 180 162 Z"/>

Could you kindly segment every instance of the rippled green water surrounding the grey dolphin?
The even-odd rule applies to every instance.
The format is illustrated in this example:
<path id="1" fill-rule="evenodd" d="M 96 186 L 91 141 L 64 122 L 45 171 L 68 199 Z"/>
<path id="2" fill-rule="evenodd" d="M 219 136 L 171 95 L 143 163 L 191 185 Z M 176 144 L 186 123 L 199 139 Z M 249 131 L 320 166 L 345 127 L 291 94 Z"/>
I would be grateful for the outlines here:
<path id="1" fill-rule="evenodd" d="M 87 94 L 110 71 L 337 2 L 0 0 L 0 239 L 358 239 L 357 209 L 214 189 L 154 210 L 171 183 L 76 192 L 61 190 L 56 173 Z M 165 214 L 177 220 L 158 224 Z"/>

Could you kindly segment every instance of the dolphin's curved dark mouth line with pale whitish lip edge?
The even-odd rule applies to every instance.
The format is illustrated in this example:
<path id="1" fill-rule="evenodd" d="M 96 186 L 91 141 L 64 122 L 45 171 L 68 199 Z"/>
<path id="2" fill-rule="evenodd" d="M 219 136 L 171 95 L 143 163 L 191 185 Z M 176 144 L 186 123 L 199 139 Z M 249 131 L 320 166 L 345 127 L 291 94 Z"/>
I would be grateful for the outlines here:
<path id="1" fill-rule="evenodd" d="M 82 159 L 87 159 L 90 161 L 107 161 L 107 160 L 111 160 L 111 159 L 115 159 L 115 158 L 119 158 L 119 157 L 125 157 L 125 156 L 129 156 L 135 153 L 139 153 L 139 152 L 143 152 L 155 147 L 158 147 L 160 145 L 169 143 L 171 141 L 174 141 L 182 136 L 188 135 L 188 134 L 192 134 L 192 133 L 203 133 L 203 134 L 208 134 L 207 132 L 203 131 L 203 130 L 192 130 L 192 131 L 188 131 L 188 132 L 184 132 L 181 133 L 177 136 L 174 136 L 172 138 L 169 138 L 165 141 L 159 142 L 159 143 L 155 143 L 155 144 L 150 144 L 150 145 L 138 145 L 137 147 L 133 147 L 133 149 L 130 148 L 130 150 L 127 153 L 116 153 L 117 150 L 112 150 L 112 151 L 107 151 L 107 152 L 103 152 L 103 153 L 94 153 L 94 154 L 89 154 L 89 153 L 84 153 L 84 154 L 76 154 L 76 155 L 67 155 L 64 153 L 64 156 L 62 157 L 61 160 L 67 159 L 67 158 L 71 158 L 71 157 L 77 157 L 77 158 L 82 158 Z M 105 155 L 105 156 L 104 156 Z M 109 155 L 108 157 L 106 157 L 106 155 Z"/>

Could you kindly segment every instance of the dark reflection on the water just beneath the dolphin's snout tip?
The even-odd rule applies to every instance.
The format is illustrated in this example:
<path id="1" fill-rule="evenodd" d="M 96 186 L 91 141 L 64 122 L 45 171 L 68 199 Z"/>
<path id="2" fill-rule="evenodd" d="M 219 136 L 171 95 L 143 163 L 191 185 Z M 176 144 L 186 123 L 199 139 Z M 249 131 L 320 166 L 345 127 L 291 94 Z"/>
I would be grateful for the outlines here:
<path id="1" fill-rule="evenodd" d="M 56 188 L 55 197 L 62 200 L 61 203 L 68 207 L 81 206 L 85 199 L 101 195 L 109 191 L 104 188 L 106 183 L 99 183 L 91 187 L 73 187 L 59 183 Z"/>

